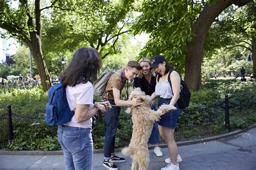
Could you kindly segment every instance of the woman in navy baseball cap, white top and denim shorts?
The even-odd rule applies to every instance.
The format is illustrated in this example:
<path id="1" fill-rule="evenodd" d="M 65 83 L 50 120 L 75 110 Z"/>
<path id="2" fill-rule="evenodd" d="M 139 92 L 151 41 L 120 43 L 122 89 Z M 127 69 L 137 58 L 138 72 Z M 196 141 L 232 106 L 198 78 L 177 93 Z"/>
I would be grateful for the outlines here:
<path id="1" fill-rule="evenodd" d="M 161 116 L 158 122 L 159 126 L 163 131 L 164 139 L 167 143 L 170 158 L 166 159 L 165 162 L 169 163 L 166 167 L 161 170 L 175 169 L 179 170 L 179 163 L 182 159 L 177 154 L 177 144 L 174 140 L 174 130 L 177 128 L 177 121 L 179 118 L 179 107 L 177 101 L 180 93 L 180 76 L 172 70 L 170 65 L 166 62 L 164 56 L 156 55 L 152 59 L 151 68 L 154 68 L 157 75 L 157 84 L 155 92 L 151 95 L 151 100 L 155 100 L 156 97 L 160 97 L 158 101 L 158 107 L 162 104 L 174 105 L 177 110 L 166 112 Z M 170 86 L 168 76 L 172 86 Z"/>

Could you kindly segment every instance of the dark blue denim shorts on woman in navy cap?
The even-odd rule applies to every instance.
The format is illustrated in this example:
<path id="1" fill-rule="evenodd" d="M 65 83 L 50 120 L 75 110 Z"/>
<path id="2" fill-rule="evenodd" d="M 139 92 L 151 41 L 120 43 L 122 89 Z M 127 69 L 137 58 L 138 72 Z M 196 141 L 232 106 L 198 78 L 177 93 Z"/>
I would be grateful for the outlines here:
<path id="1" fill-rule="evenodd" d="M 160 107 L 162 104 L 170 104 L 170 101 L 171 98 L 160 98 L 160 100 L 158 101 L 158 107 Z M 160 126 L 164 126 L 170 129 L 177 128 L 177 122 L 179 118 L 178 104 L 176 103 L 174 107 L 176 107 L 177 110 L 166 112 L 166 114 L 161 116 L 161 119 L 158 122 Z"/>

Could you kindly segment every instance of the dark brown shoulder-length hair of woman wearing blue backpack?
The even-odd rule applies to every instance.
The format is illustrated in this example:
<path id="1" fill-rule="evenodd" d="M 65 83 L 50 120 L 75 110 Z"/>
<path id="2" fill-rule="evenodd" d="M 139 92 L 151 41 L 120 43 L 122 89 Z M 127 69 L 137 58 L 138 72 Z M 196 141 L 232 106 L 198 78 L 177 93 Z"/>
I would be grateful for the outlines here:
<path id="1" fill-rule="evenodd" d="M 79 83 L 87 81 L 96 81 L 97 74 L 102 67 L 102 60 L 95 48 L 82 47 L 78 48 L 73 54 L 69 65 L 60 75 L 64 86 L 76 86 Z"/>

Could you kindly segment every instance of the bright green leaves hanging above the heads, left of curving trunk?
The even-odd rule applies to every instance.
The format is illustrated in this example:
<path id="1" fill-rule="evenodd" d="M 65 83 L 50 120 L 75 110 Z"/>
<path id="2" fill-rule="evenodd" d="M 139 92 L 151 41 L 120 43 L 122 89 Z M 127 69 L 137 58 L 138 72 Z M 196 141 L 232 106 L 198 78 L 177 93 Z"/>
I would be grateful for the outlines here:
<path id="1" fill-rule="evenodd" d="M 138 59 L 163 54 L 174 69 L 183 73 L 194 17 L 187 10 L 187 1 L 144 1 L 139 11 L 142 13 L 132 29 L 134 33 L 150 33 L 150 39 Z"/>

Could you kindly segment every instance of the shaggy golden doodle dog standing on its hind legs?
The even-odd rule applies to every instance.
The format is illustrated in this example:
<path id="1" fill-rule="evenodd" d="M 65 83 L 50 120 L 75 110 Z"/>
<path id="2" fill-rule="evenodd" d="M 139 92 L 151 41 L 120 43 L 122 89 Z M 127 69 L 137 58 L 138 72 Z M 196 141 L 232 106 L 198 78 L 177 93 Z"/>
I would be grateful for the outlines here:
<path id="1" fill-rule="evenodd" d="M 132 105 L 126 110 L 127 113 L 132 114 L 132 138 L 128 147 L 122 150 L 125 155 L 130 155 L 132 158 L 131 169 L 147 169 L 150 162 L 149 148 L 147 142 L 153 128 L 153 122 L 158 121 L 160 116 L 167 111 L 176 110 L 172 105 L 161 105 L 161 107 L 154 111 L 149 106 L 150 96 L 145 95 L 140 88 L 134 89 L 129 100 L 132 98 L 142 99 L 142 103 Z"/>

